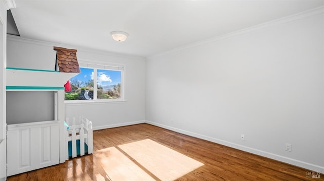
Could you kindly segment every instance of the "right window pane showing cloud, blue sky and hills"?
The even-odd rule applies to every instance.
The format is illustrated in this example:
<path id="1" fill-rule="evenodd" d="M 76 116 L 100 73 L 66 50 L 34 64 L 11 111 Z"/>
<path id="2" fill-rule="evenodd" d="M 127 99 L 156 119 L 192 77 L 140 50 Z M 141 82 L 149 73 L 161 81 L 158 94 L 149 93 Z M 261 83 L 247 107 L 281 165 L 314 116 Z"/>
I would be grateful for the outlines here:
<path id="1" fill-rule="evenodd" d="M 97 98 L 120 99 L 121 71 L 97 70 Z"/>

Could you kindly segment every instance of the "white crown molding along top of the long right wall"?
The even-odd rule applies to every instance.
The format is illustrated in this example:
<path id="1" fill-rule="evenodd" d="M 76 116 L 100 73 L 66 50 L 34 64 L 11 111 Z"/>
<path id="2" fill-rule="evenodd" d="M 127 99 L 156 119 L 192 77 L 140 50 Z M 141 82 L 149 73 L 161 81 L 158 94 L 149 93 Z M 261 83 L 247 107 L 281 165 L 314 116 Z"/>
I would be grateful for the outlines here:
<path id="1" fill-rule="evenodd" d="M 257 31 L 260 31 L 262 29 L 269 28 L 269 27 L 272 27 L 272 26 L 275 26 L 275 25 L 284 24 L 284 23 L 287 23 L 287 22 L 295 21 L 295 20 L 298 20 L 298 19 L 302 19 L 302 18 L 306 18 L 306 17 L 309 17 L 309 16 L 318 15 L 318 14 L 322 14 L 322 13 L 324 13 L 324 6 L 317 7 L 317 8 L 307 10 L 307 11 L 304 11 L 304 12 L 301 12 L 301 13 L 297 13 L 297 14 L 294 14 L 294 15 L 286 16 L 284 18 L 279 18 L 279 19 L 276 19 L 276 20 L 272 20 L 272 21 L 262 23 L 262 24 L 259 24 L 259 25 L 251 26 L 249 28 L 241 29 L 241 30 L 238 30 L 238 31 L 234 31 L 234 32 L 231 32 L 231 33 L 224 34 L 224 35 L 216 36 L 216 37 L 213 37 L 213 38 L 210 38 L 210 39 L 205 39 L 205 40 L 198 41 L 198 42 L 195 42 L 195 43 L 191 43 L 191 44 L 188 44 L 188 45 L 180 46 L 180 47 L 177 47 L 177 48 L 174 48 L 174 49 L 170 49 L 170 50 L 167 50 L 167 51 L 164 51 L 164 52 L 160 52 L 160 53 L 148 56 L 146 59 L 149 60 L 151 58 L 155 58 L 155 57 L 158 57 L 158 56 L 174 53 L 174 52 L 177 52 L 177 51 L 193 48 L 193 47 L 200 46 L 200 45 L 205 45 L 205 44 L 217 42 L 217 41 L 227 39 L 227 38 L 231 38 L 231 37 L 234 37 L 234 36 L 239 36 L 239 35 L 244 35 L 244 34 L 247 34 L 247 33 L 257 32 Z"/>

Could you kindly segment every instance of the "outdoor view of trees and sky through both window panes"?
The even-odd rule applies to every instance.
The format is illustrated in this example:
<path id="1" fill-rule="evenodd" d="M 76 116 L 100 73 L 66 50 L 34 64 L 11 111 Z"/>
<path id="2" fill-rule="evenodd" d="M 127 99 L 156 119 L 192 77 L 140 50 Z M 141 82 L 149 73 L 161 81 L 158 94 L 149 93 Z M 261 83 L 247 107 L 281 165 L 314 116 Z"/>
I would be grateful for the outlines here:
<path id="1" fill-rule="evenodd" d="M 71 91 L 65 92 L 65 100 L 121 98 L 121 71 L 91 68 L 80 70 L 80 74 L 70 79 Z M 97 82 L 97 86 L 94 86 L 94 82 Z M 97 92 L 95 99 L 94 91 Z"/>

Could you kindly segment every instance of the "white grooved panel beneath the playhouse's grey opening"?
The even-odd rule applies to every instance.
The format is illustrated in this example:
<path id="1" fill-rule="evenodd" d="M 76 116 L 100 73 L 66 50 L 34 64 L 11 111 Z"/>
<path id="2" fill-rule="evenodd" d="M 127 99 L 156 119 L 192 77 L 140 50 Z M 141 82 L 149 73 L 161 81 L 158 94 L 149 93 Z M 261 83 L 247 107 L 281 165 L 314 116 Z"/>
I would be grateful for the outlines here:
<path id="1" fill-rule="evenodd" d="M 8 176 L 59 163 L 57 121 L 8 125 Z"/>

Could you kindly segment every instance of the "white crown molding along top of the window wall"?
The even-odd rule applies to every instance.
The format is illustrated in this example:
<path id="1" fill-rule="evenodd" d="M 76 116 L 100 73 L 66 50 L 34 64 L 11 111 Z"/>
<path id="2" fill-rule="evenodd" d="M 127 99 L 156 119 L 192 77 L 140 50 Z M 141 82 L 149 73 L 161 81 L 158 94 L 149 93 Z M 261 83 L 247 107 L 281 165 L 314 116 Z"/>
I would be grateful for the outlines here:
<path id="1" fill-rule="evenodd" d="M 7 34 L 7 41 L 8 40 L 16 41 L 16 42 L 22 42 L 22 43 L 36 44 L 36 45 L 41 45 L 41 46 L 49 46 L 51 48 L 53 48 L 53 46 L 71 47 L 71 49 L 77 49 L 77 51 L 83 51 L 83 52 L 88 52 L 88 53 L 101 54 L 101 55 L 107 55 L 107 56 L 116 56 L 116 57 L 123 57 L 123 58 L 131 58 L 131 59 L 139 59 L 139 60 L 146 60 L 146 58 L 143 57 L 143 56 L 129 55 L 129 54 L 123 54 L 123 53 L 104 51 L 104 50 L 97 50 L 97 49 L 92 49 L 92 48 L 83 47 L 83 46 L 60 44 L 60 43 L 49 42 L 49 41 L 33 40 L 33 39 L 22 38 L 20 36 Z"/>

